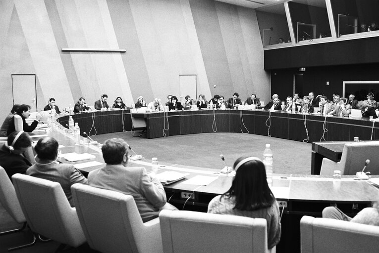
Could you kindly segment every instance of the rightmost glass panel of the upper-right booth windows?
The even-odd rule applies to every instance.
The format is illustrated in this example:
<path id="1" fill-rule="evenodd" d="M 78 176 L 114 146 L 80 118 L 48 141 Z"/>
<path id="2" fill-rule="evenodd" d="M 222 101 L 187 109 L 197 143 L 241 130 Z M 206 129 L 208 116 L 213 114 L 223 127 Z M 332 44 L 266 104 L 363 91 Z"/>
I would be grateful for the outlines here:
<path id="1" fill-rule="evenodd" d="M 378 30 L 378 0 L 331 0 L 337 37 Z"/>

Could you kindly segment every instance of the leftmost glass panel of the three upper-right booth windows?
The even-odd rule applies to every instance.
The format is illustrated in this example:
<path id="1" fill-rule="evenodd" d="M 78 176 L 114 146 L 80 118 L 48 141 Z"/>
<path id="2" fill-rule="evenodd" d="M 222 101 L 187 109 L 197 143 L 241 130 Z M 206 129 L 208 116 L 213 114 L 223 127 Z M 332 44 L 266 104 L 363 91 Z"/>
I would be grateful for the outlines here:
<path id="1" fill-rule="evenodd" d="M 291 42 L 284 3 L 256 9 L 263 47 Z"/>

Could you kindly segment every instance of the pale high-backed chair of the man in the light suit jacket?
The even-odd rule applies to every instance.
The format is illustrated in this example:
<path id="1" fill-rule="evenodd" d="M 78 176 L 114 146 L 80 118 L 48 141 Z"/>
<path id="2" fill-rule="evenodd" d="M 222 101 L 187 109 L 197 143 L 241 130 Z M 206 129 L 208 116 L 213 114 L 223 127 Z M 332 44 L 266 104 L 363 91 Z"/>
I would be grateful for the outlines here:
<path id="1" fill-rule="evenodd" d="M 162 253 L 159 218 L 143 223 L 130 195 L 95 188 L 71 186 L 87 242 L 102 253 Z"/>

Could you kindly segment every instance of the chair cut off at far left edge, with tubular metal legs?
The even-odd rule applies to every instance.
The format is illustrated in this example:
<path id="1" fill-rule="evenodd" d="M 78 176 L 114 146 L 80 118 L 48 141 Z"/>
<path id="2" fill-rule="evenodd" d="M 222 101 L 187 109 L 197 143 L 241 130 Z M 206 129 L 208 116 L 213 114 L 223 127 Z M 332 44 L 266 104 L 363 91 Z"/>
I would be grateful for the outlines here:
<path id="1" fill-rule="evenodd" d="M 26 228 L 26 218 L 24 213 L 21 210 L 20 203 L 18 202 L 16 191 L 14 190 L 14 186 L 10 181 L 8 175 L 5 172 L 5 169 L 0 166 L 0 203 L 4 207 L 4 209 L 8 212 L 8 214 L 18 223 L 20 223 L 21 228 L 12 229 L 8 231 L 3 231 L 0 235 L 5 235 L 12 232 L 21 231 Z M 22 225 L 21 225 L 22 224 Z M 10 250 L 21 249 L 27 246 L 31 246 L 36 242 L 36 237 L 32 233 L 33 239 L 31 243 L 17 246 Z"/>

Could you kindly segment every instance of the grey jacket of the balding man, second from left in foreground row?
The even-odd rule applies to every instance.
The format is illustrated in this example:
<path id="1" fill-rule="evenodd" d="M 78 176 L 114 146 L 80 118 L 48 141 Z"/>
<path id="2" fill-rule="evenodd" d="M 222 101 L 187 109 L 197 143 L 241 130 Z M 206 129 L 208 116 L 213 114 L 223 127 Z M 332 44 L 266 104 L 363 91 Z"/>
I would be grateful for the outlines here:
<path id="1" fill-rule="evenodd" d="M 26 170 L 27 175 L 58 182 L 62 186 L 63 192 L 67 197 L 71 207 L 74 207 L 74 201 L 71 194 L 71 185 L 75 183 L 88 184 L 78 169 L 71 164 L 62 164 L 52 161 L 42 161 L 36 158 L 37 163 Z"/>

